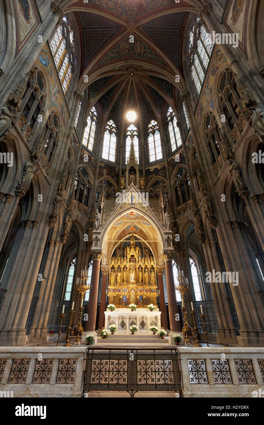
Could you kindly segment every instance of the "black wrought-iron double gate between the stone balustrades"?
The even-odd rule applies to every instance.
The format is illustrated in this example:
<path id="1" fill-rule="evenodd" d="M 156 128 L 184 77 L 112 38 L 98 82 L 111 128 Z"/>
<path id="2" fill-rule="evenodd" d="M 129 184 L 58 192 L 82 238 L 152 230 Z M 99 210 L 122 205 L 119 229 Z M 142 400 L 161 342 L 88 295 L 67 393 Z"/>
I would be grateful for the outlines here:
<path id="1" fill-rule="evenodd" d="M 88 391 L 181 392 L 180 359 L 176 348 L 89 348 L 83 376 Z"/>

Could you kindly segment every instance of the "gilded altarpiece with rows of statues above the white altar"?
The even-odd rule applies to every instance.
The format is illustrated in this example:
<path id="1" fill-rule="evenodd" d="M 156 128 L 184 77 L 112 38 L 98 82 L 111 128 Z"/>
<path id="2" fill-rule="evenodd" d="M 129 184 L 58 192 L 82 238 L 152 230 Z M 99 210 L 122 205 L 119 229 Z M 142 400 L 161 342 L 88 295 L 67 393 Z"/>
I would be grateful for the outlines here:
<path id="1" fill-rule="evenodd" d="M 132 303 L 138 307 L 157 303 L 155 259 L 141 255 L 140 247 L 135 245 L 133 232 L 130 245 L 125 248 L 124 258 L 111 258 L 108 297 L 109 304 L 119 308 L 126 308 Z"/>

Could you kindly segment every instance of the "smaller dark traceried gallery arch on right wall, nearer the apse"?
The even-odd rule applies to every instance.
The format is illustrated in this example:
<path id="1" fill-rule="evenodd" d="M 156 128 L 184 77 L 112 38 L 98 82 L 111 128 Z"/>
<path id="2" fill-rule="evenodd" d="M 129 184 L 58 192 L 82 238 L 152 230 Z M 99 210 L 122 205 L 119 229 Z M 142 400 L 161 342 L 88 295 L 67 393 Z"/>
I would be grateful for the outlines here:
<path id="1" fill-rule="evenodd" d="M 222 149 L 219 136 L 219 126 L 214 114 L 211 112 L 208 113 L 204 121 L 204 136 L 211 153 L 212 162 L 215 164 Z"/>

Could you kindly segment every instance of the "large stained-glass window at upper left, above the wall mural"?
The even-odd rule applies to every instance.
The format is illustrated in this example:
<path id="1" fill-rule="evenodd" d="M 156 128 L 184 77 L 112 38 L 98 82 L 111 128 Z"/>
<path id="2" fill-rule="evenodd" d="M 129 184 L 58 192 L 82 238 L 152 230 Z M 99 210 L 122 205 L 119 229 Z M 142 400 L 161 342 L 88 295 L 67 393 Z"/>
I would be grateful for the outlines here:
<path id="1" fill-rule="evenodd" d="M 63 18 L 60 26 L 57 28 L 56 33 L 50 41 L 50 48 L 65 93 L 75 69 L 74 34 L 67 17 Z"/>

